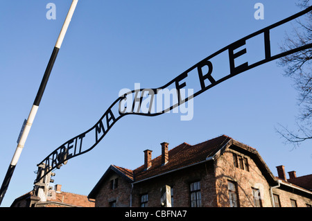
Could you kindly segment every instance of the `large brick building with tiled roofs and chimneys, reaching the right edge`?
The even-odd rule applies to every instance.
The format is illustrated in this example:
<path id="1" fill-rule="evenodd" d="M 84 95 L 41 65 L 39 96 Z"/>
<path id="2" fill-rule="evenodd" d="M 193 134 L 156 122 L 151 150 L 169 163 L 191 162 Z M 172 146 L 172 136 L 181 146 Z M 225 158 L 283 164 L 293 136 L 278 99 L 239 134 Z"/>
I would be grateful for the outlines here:
<path id="1" fill-rule="evenodd" d="M 95 206 L 311 206 L 312 175 L 296 177 L 278 166 L 272 175 L 257 150 L 229 136 L 168 150 L 129 170 L 111 165 L 88 197 Z"/>

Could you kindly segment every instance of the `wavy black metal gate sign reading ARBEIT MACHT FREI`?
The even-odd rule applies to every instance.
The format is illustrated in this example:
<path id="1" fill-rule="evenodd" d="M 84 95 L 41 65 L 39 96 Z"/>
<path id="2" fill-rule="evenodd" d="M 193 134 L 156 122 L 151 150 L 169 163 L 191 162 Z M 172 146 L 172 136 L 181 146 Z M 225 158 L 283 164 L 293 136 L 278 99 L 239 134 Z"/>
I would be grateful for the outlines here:
<path id="1" fill-rule="evenodd" d="M 304 46 L 293 48 L 289 51 L 284 51 L 282 53 L 272 55 L 270 44 L 270 31 L 273 28 L 277 28 L 282 24 L 286 24 L 288 21 L 292 21 L 293 19 L 296 19 L 297 17 L 300 17 L 310 12 L 311 10 L 312 7 L 306 8 L 306 10 L 303 10 L 302 12 L 299 12 L 291 17 L 272 24 L 271 26 L 258 30 L 251 35 L 243 37 L 242 39 L 239 39 L 238 41 L 229 44 L 228 46 L 225 46 L 216 53 L 209 55 L 204 60 L 193 65 L 193 67 L 187 69 L 187 71 L 184 71 L 179 76 L 177 76 L 162 87 L 159 87 L 157 89 L 136 89 L 133 91 L 128 91 L 128 93 L 122 94 L 114 101 L 114 103 L 112 103 L 112 105 L 103 114 L 101 119 L 96 122 L 93 127 L 60 145 L 59 148 L 51 152 L 51 154 L 49 154 L 44 160 L 38 163 L 38 166 L 42 163 L 46 165 L 46 170 L 44 173 L 44 175 L 46 175 L 54 168 L 60 168 L 60 166 L 64 162 L 67 162 L 69 159 L 92 150 L 101 141 L 101 139 L 103 139 L 103 137 L 107 134 L 110 128 L 112 128 L 114 123 L 116 123 L 121 117 L 125 115 L 137 114 L 144 116 L 157 116 L 159 114 L 164 114 L 171 109 L 174 109 L 175 107 L 181 105 L 182 103 L 186 103 L 193 97 L 202 94 L 204 91 L 207 91 L 211 87 L 220 84 L 220 82 L 223 82 L 229 78 L 238 75 L 239 73 L 248 71 L 249 69 L 258 67 L 261 64 L 265 64 L 286 55 L 290 55 L 291 53 L 296 53 L 298 51 L 311 48 L 312 44 L 306 44 Z M 249 62 L 243 62 L 240 65 L 236 65 L 235 61 L 239 58 L 243 58 L 242 55 L 248 53 L 248 46 L 246 44 L 246 41 L 248 39 L 253 39 L 254 37 L 260 37 L 261 41 L 263 42 L 263 58 L 252 64 L 250 64 Z M 227 64 L 224 65 L 227 65 L 229 67 L 229 73 L 215 73 L 214 63 L 212 62 L 212 60 L 213 58 L 216 58 L 221 54 L 224 55 L 224 53 L 227 55 Z M 200 87 L 198 87 L 197 91 L 194 91 L 194 93 L 190 96 L 182 98 L 182 96 L 180 96 L 180 92 L 182 89 L 187 87 L 189 80 L 196 80 Z M 153 105 L 153 100 L 155 100 L 157 95 L 159 95 L 159 91 L 169 88 L 173 88 L 177 91 L 176 103 L 174 103 L 170 107 L 157 109 L 157 111 L 155 111 L 155 109 L 153 110 L 151 108 Z M 129 105 L 125 107 L 124 103 L 128 103 L 131 105 L 130 107 Z M 141 111 L 141 109 L 139 108 L 143 103 L 144 105 L 147 105 L 146 111 Z M 44 175 L 42 175 L 42 177 L 44 177 Z M 39 181 L 42 177 L 38 177 L 35 182 Z"/>

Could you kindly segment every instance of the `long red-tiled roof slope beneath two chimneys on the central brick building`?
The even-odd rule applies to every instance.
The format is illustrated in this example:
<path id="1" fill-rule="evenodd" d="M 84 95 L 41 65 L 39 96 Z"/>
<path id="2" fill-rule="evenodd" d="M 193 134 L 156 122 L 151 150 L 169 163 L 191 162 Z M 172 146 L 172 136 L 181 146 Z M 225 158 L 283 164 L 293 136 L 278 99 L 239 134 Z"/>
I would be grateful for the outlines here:
<path id="1" fill-rule="evenodd" d="M 114 167 L 119 169 L 121 173 L 125 174 L 130 179 L 137 182 L 155 175 L 162 175 L 171 170 L 183 168 L 184 166 L 190 166 L 200 161 L 205 161 L 207 157 L 212 156 L 230 139 L 229 136 L 223 135 L 196 145 L 182 143 L 168 151 L 169 160 L 166 165 L 162 165 L 162 155 L 160 155 L 159 157 L 152 159 L 152 166 L 148 168 L 148 170 L 144 169 L 144 165 L 135 170 L 125 169 L 119 166 Z"/>

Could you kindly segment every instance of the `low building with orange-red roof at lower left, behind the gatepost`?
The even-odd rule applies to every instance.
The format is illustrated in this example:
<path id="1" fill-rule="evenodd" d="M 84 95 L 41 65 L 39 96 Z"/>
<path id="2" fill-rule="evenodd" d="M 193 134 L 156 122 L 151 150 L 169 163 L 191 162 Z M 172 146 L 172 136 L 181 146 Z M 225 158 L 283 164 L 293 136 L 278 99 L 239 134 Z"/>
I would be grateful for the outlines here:
<path id="1" fill-rule="evenodd" d="M 94 200 L 86 195 L 63 192 L 61 187 L 57 184 L 51 188 L 44 200 L 31 191 L 15 199 L 10 207 L 94 207 Z"/>

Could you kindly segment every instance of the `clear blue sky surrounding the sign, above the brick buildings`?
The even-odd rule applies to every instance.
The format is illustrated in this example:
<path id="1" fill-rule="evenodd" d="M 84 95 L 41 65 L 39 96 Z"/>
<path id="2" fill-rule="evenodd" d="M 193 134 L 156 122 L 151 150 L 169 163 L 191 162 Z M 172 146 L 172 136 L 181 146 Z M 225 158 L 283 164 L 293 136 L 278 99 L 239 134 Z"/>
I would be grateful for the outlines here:
<path id="1" fill-rule="evenodd" d="M 46 19 L 55 3 L 56 19 Z M 254 19 L 263 3 L 264 19 Z M 48 154 L 92 127 L 123 88 L 160 87 L 223 46 L 289 17 L 291 0 L 78 1 L 33 127 L 1 206 L 33 188 L 34 171 Z M 0 182 L 15 152 L 46 64 L 71 0 L 0 3 Z M 278 48 L 284 31 L 276 33 Z M 88 195 L 110 164 L 135 169 L 144 150 L 161 154 L 180 143 L 201 143 L 226 134 L 256 148 L 274 175 L 275 166 L 311 174 L 311 141 L 285 145 L 275 132 L 295 128 L 297 91 L 277 62 L 241 73 L 194 98 L 191 121 L 180 114 L 125 116 L 94 150 L 55 170 L 62 190 Z"/>

